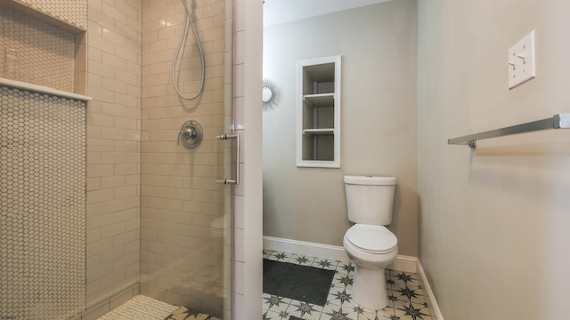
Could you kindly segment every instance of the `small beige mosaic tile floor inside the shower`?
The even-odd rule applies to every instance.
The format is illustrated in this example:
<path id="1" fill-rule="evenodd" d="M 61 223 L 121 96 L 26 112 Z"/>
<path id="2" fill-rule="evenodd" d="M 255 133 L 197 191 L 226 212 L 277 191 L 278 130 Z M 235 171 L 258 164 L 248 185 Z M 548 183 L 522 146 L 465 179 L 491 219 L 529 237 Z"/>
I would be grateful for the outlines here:
<path id="1" fill-rule="evenodd" d="M 137 295 L 97 320 L 164 320 L 178 307 Z"/>

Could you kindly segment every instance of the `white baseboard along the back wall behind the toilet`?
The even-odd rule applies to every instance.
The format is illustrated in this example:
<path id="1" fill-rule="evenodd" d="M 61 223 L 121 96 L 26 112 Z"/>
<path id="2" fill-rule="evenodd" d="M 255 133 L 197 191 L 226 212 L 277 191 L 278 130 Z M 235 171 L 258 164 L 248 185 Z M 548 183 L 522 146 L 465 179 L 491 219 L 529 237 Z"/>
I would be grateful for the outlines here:
<path id="1" fill-rule="evenodd" d="M 345 248 L 338 245 L 315 244 L 305 241 L 264 236 L 264 249 L 304 254 L 311 257 L 320 257 L 344 262 L 350 261 L 350 258 L 346 255 Z M 418 270 L 417 262 L 418 258 L 416 257 L 398 254 L 390 268 L 403 272 L 416 273 Z"/>

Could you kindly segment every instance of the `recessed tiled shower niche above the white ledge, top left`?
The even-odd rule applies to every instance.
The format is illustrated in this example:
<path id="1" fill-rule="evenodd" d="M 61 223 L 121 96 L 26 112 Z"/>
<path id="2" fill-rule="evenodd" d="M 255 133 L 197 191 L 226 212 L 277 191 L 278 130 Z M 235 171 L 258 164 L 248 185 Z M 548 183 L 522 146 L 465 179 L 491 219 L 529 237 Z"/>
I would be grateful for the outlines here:
<path id="1" fill-rule="evenodd" d="M 0 0 L 0 77 L 85 94 L 86 18 L 85 0 Z"/>

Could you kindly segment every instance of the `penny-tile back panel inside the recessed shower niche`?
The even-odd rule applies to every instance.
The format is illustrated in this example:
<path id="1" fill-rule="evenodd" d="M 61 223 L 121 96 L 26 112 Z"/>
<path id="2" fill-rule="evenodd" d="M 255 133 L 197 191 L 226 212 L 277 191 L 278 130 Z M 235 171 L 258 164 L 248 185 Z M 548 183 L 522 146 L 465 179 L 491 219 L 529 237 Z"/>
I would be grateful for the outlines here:
<path id="1" fill-rule="evenodd" d="M 0 77 L 74 92 L 74 35 L 8 6 L 0 26 Z"/>

